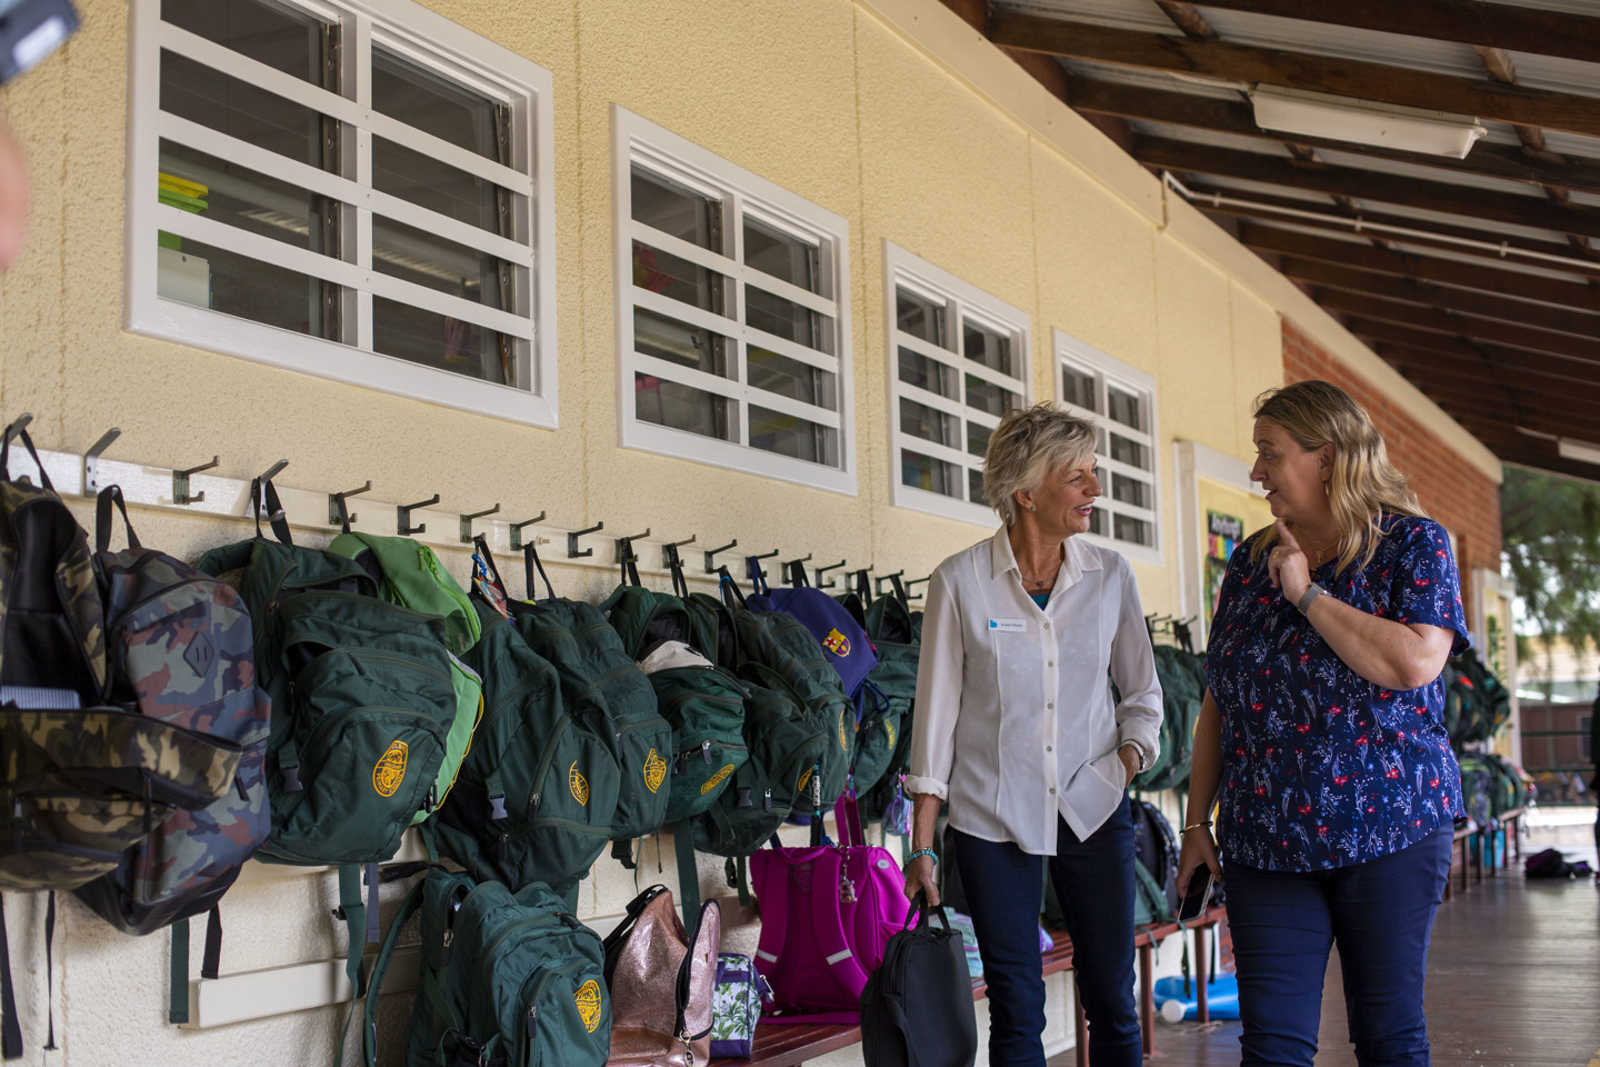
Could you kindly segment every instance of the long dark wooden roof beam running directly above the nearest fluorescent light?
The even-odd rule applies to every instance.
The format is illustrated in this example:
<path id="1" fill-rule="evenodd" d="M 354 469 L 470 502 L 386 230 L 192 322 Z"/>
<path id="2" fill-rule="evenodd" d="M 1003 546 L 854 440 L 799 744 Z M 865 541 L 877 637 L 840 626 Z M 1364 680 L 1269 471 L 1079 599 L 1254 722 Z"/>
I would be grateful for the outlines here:
<path id="1" fill-rule="evenodd" d="M 1392 5 L 1403 6 L 1403 5 Z M 1517 8 L 1520 14 L 1523 10 Z M 1590 19 L 1592 22 L 1592 19 Z M 1005 48 L 1093 59 L 1147 70 L 1200 74 L 1230 82 L 1266 82 L 1358 99 L 1448 110 L 1498 122 L 1600 136 L 1594 98 L 1462 78 L 1381 62 L 1186 40 L 1166 34 L 1091 26 L 992 11 L 989 38 Z"/>

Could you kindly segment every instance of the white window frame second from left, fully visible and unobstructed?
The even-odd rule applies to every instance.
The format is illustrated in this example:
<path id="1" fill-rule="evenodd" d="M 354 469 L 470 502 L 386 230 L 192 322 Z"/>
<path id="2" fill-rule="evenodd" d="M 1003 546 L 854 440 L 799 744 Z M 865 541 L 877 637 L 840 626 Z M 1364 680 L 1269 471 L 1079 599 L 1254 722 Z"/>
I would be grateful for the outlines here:
<path id="1" fill-rule="evenodd" d="M 616 386 L 618 442 L 624 448 L 691 459 L 714 467 L 794 482 L 848 496 L 856 494 L 854 374 L 850 330 L 850 222 L 758 174 L 682 138 L 670 130 L 611 106 L 611 203 L 614 246 L 616 307 Z M 640 165 L 661 178 L 698 189 L 726 205 L 725 256 L 699 245 L 678 240 L 634 219 L 632 174 Z M 818 245 L 819 288 L 811 293 L 744 264 L 744 218 L 787 230 Z M 634 240 L 669 251 L 699 264 L 730 282 L 730 315 L 701 310 L 690 304 L 642 290 L 634 285 Z M 765 331 L 747 326 L 742 318 L 744 283 L 810 307 L 832 320 L 834 354 L 818 352 Z M 634 350 L 634 304 L 670 318 L 714 330 L 734 344 L 730 365 L 736 378 L 717 378 L 701 371 L 653 360 Z M 827 370 L 837 376 L 838 410 L 790 400 L 749 386 L 746 349 L 750 342 L 800 363 Z M 738 438 L 731 442 L 704 437 L 690 430 L 645 422 L 635 414 L 634 374 L 661 374 L 674 382 L 714 392 L 738 402 Z M 834 427 L 838 435 L 838 467 L 770 453 L 742 442 L 749 440 L 750 403 L 792 414 L 808 422 Z"/>

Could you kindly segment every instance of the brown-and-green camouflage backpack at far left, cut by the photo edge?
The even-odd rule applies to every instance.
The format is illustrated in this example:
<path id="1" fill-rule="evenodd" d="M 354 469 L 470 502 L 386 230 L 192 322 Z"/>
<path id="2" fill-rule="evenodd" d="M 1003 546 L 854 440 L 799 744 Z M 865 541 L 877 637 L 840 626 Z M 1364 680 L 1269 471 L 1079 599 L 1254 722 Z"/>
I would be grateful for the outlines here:
<path id="1" fill-rule="evenodd" d="M 0 888 L 72 889 L 232 790 L 240 747 L 109 701 L 88 541 L 38 475 L 0 482 Z"/>

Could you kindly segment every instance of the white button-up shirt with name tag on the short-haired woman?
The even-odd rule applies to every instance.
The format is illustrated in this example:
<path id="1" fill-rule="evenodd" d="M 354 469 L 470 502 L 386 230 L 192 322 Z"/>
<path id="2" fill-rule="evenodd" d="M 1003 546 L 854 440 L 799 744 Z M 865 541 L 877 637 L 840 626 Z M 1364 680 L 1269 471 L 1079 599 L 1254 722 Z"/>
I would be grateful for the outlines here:
<path id="1" fill-rule="evenodd" d="M 1090 837 L 1122 803 L 1117 749 L 1160 745 L 1162 686 L 1133 569 L 1067 537 L 1050 601 L 1022 589 L 1005 528 L 933 573 L 906 792 L 950 825 L 1056 853 L 1056 813 Z M 1112 704 L 1107 669 L 1122 702 Z"/>

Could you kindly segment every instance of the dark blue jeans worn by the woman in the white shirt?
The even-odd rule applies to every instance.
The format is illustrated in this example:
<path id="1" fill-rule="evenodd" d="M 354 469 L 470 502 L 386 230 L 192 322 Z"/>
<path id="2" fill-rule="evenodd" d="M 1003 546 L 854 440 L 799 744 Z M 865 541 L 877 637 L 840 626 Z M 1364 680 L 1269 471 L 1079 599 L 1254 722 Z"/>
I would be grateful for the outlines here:
<path id="1" fill-rule="evenodd" d="M 1045 976 L 1038 953 L 1043 856 L 958 835 L 955 862 L 989 982 L 990 1067 L 1043 1067 Z M 1080 841 L 1056 824 L 1050 878 L 1072 937 L 1072 969 L 1090 1024 L 1090 1067 L 1139 1067 L 1133 997 L 1133 814 L 1128 798 Z"/>

